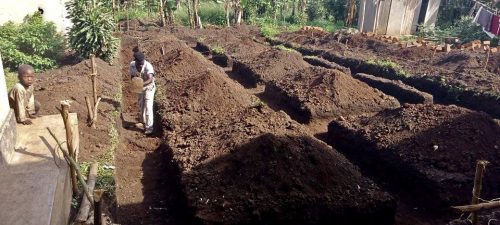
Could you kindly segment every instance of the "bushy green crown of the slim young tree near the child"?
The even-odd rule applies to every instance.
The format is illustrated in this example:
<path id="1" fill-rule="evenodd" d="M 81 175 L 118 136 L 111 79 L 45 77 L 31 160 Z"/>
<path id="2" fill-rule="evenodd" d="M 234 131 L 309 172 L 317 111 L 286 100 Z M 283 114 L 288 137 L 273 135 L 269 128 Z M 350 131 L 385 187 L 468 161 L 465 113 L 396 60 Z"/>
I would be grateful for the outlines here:
<path id="1" fill-rule="evenodd" d="M 68 36 L 70 47 L 81 58 L 91 54 L 110 62 L 116 55 L 118 39 L 113 37 L 115 23 L 109 8 L 96 0 L 92 3 L 71 0 L 66 3 L 69 18 L 73 26 Z"/>

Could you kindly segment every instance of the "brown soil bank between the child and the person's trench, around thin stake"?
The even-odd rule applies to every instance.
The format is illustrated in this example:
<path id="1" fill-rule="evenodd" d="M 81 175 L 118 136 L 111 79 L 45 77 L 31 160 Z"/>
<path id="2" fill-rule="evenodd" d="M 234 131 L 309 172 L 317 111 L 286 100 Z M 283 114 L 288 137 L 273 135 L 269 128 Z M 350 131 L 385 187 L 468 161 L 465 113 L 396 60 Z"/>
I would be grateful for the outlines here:
<path id="1" fill-rule="evenodd" d="M 78 114 L 80 124 L 79 160 L 81 161 L 97 159 L 108 150 L 109 130 L 117 119 L 113 116 L 113 112 L 118 112 L 121 105 L 117 97 L 121 93 L 120 68 L 110 66 L 100 59 L 96 59 L 96 65 L 97 92 L 98 96 L 102 97 L 96 129 L 85 125 L 87 124 L 85 96 L 92 99 L 90 60 L 49 70 L 36 76 L 35 99 L 42 104 L 40 109 L 42 115 L 59 114 L 56 107 L 60 108 L 60 101 L 72 100 L 70 112 Z"/>

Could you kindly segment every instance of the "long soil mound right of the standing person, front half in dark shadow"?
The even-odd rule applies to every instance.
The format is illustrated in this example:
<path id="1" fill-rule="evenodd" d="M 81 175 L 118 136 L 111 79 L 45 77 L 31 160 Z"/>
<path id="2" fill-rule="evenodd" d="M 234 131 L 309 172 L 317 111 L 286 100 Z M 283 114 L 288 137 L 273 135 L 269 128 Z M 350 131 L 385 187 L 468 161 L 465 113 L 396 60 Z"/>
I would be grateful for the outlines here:
<path id="1" fill-rule="evenodd" d="M 394 201 L 355 166 L 178 43 L 166 36 L 139 46 L 165 46 L 167 54 L 150 58 L 163 64 L 156 102 L 164 142 L 188 204 L 205 224 L 326 223 L 323 217 L 391 223 Z"/>

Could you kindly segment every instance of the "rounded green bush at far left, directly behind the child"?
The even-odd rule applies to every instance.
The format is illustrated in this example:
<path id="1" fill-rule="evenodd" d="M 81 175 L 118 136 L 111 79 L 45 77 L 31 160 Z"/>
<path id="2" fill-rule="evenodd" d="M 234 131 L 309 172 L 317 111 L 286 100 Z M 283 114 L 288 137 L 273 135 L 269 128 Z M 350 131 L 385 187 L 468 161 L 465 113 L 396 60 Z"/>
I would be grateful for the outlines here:
<path id="1" fill-rule="evenodd" d="M 64 37 L 54 23 L 44 21 L 39 13 L 26 16 L 21 24 L 0 26 L 0 52 L 4 66 L 12 71 L 23 63 L 37 71 L 54 68 L 64 47 Z"/>

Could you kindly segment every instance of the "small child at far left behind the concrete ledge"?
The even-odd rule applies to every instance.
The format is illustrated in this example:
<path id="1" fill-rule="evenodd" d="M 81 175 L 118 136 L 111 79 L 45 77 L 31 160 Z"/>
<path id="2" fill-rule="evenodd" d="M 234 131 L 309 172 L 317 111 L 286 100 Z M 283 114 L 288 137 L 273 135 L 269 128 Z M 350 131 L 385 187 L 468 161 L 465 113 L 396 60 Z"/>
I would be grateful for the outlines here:
<path id="1" fill-rule="evenodd" d="M 33 82 L 35 70 L 30 65 L 20 65 L 17 71 L 19 83 L 9 92 L 9 105 L 16 113 L 16 120 L 20 124 L 31 125 L 30 119 L 36 118 L 40 103 L 35 101 Z"/>

